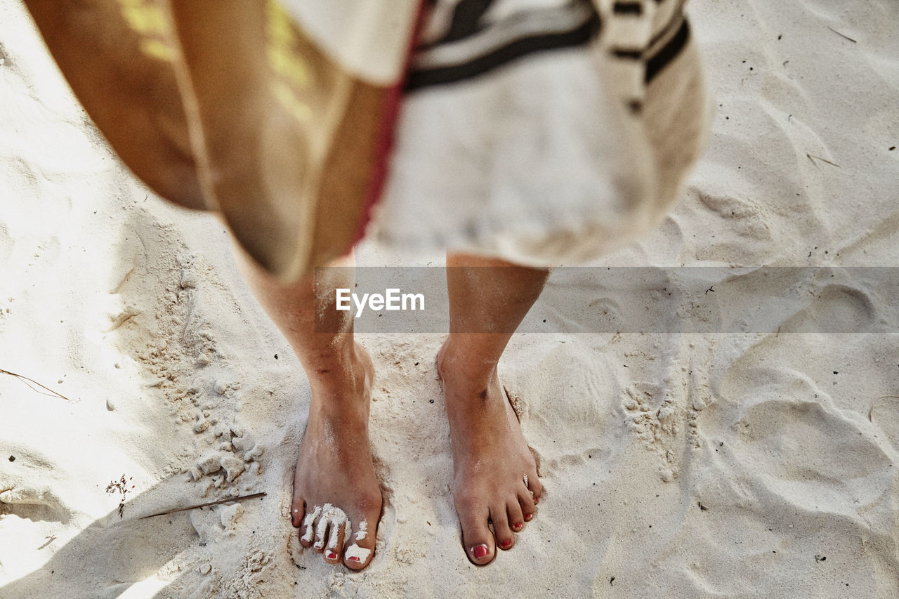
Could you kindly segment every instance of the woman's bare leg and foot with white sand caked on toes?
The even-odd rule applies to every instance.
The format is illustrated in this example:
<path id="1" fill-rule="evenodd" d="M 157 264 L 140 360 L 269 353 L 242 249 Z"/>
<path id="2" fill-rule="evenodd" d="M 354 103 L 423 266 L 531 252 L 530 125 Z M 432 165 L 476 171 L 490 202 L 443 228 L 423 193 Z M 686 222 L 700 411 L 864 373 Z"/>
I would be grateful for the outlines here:
<path id="1" fill-rule="evenodd" d="M 368 566 L 375 548 L 381 493 L 369 449 L 369 354 L 353 341 L 352 316 L 334 309 L 334 289 L 352 288 L 350 269 L 330 281 L 285 286 L 245 255 L 246 281 L 303 365 L 312 389 L 306 433 L 293 481 L 291 522 L 300 542 L 348 568 Z M 352 265 L 352 256 L 343 264 Z M 316 289 L 317 287 L 317 289 Z M 316 332 L 316 308 L 319 330 Z M 330 319 L 330 320 L 329 320 Z M 326 507 L 327 506 L 327 507 Z M 349 526 L 343 528 L 345 514 Z M 353 535 L 344 551 L 344 539 Z"/>

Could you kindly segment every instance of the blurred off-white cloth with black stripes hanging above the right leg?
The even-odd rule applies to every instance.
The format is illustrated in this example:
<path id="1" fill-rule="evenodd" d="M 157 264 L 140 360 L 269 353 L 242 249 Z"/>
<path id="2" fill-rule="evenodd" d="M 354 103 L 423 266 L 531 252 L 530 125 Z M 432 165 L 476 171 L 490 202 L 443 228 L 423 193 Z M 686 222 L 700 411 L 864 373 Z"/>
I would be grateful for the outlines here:
<path id="1" fill-rule="evenodd" d="M 654 227 L 705 145 L 711 103 L 682 3 L 647 4 L 648 39 L 628 47 L 636 8 L 600 19 L 590 0 L 438 0 L 368 235 L 551 266 Z M 610 45 L 615 18 L 625 36 Z"/>

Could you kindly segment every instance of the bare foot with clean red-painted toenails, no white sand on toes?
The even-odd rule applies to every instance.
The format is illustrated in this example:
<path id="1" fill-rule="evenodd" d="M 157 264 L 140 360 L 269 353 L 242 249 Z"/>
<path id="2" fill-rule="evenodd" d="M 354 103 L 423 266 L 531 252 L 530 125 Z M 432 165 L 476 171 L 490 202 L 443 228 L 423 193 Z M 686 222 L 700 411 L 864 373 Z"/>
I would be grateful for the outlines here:
<path id="1" fill-rule="evenodd" d="M 484 368 L 468 368 L 468 355 L 448 340 L 438 353 L 437 370 L 449 416 L 462 543 L 468 559 L 483 566 L 494 559 L 497 546 L 512 549 L 514 533 L 537 513 L 543 487 L 495 366 L 486 380 L 475 380 L 469 373 Z"/>

